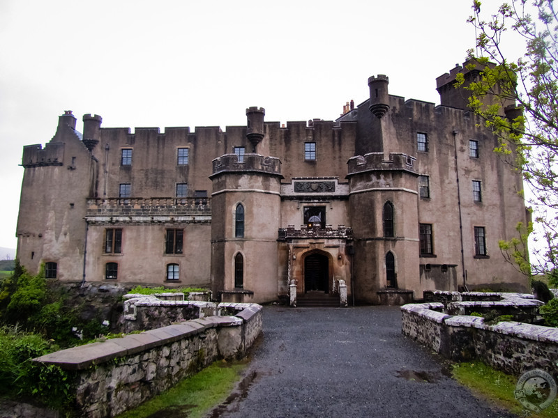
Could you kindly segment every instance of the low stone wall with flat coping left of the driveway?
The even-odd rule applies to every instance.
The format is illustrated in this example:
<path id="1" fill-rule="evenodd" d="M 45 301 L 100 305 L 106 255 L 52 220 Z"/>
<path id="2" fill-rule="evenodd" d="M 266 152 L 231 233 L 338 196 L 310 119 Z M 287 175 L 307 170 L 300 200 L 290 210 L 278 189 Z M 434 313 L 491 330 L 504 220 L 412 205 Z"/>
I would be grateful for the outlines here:
<path id="1" fill-rule="evenodd" d="M 33 359 L 74 376 L 80 417 L 134 408 L 216 359 L 240 358 L 262 330 L 262 307 L 236 304 L 236 316 L 206 316 Z"/>

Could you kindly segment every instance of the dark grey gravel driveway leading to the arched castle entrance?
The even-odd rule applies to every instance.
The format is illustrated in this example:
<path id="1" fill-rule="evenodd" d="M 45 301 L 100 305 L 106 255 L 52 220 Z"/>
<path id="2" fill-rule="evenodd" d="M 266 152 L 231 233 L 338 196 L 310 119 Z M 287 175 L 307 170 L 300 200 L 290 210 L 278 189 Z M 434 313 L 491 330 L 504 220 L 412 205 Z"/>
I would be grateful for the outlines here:
<path id="1" fill-rule="evenodd" d="M 402 336 L 398 307 L 265 307 L 246 387 L 211 416 L 515 417 L 444 370 Z"/>

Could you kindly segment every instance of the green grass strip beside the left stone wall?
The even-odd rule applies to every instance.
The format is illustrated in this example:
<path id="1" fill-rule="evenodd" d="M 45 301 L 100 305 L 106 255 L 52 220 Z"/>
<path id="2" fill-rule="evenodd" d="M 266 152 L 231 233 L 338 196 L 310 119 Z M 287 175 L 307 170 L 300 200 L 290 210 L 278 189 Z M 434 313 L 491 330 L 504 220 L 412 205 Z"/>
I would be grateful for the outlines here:
<path id="1" fill-rule="evenodd" d="M 169 417 L 201 418 L 225 401 L 241 379 L 247 362 L 215 362 L 172 389 L 117 418 L 146 418 L 167 409 Z"/>

